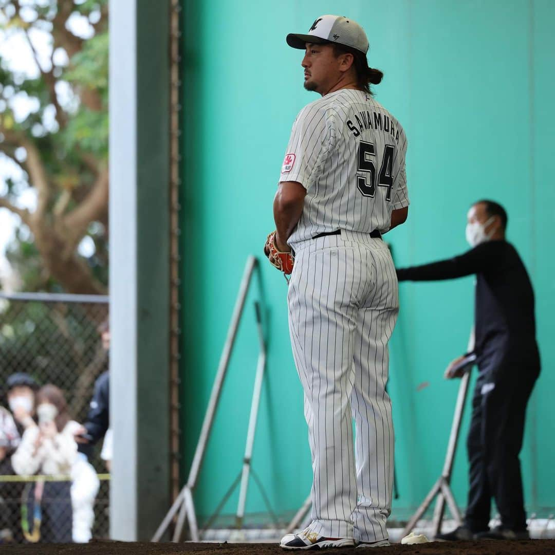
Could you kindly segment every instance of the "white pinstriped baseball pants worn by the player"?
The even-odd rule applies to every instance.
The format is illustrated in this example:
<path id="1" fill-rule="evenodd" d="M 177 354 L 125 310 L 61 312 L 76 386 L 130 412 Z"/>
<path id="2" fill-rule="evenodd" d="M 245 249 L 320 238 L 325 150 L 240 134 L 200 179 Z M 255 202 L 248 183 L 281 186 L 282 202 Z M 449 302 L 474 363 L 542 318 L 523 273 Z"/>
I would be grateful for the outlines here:
<path id="1" fill-rule="evenodd" d="M 386 539 L 394 441 L 387 344 L 398 313 L 393 261 L 381 239 L 343 230 L 294 248 L 287 301 L 314 471 L 310 528 L 325 537 Z"/>

